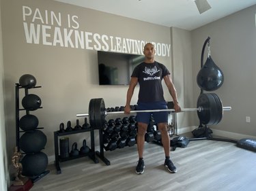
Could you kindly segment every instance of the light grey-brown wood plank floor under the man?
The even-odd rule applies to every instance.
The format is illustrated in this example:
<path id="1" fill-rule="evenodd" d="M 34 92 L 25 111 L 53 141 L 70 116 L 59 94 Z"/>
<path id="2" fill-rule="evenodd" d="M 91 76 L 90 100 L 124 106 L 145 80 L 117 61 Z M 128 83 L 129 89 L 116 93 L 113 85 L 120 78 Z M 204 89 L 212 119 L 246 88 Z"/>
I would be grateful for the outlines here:
<path id="1" fill-rule="evenodd" d="M 31 191 L 255 191 L 256 153 L 223 141 L 190 141 L 186 148 L 177 147 L 171 160 L 177 173 L 163 166 L 165 155 L 160 145 L 145 143 L 145 172 L 135 173 L 137 147 L 104 152 L 111 162 L 94 164 L 89 158 L 61 162 L 60 175 L 55 166 L 35 182 Z"/>

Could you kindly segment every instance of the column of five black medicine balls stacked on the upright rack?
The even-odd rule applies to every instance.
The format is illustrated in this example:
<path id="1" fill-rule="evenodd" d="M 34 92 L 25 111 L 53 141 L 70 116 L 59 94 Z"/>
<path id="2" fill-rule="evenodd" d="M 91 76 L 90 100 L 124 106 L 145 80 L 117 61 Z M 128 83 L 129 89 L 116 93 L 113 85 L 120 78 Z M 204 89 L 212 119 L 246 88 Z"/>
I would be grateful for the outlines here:
<path id="1" fill-rule="evenodd" d="M 20 161 L 23 164 L 22 174 L 27 177 L 38 177 L 44 173 L 48 165 L 48 157 L 41 152 L 46 145 L 46 135 L 38 130 L 38 118 L 29 111 L 35 111 L 41 106 L 41 99 L 36 94 L 29 94 L 28 89 L 34 88 L 36 79 L 33 75 L 25 74 L 19 79 L 20 88 L 25 88 L 25 97 L 22 99 L 22 105 L 26 110 L 25 116 L 19 120 L 19 127 L 23 130 L 23 135 L 19 139 L 19 148 L 25 152 L 25 156 Z"/>

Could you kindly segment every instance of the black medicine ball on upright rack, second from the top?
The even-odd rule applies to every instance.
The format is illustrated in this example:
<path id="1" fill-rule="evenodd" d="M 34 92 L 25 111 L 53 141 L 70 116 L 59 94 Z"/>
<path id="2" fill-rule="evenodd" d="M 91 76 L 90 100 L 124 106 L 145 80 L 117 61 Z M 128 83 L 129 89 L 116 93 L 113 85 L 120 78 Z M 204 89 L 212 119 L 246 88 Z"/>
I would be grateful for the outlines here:
<path id="1" fill-rule="evenodd" d="M 41 99 L 36 94 L 27 94 L 21 102 L 23 107 L 29 111 L 38 109 L 41 106 Z"/>

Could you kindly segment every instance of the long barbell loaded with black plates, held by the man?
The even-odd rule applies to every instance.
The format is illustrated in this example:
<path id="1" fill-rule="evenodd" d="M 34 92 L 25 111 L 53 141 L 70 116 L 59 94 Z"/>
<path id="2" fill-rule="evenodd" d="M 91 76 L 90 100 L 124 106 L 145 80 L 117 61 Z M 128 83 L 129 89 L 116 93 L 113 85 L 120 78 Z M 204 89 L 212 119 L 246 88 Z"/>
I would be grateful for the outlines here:
<path id="1" fill-rule="evenodd" d="M 215 93 L 201 93 L 197 99 L 197 108 L 184 108 L 184 111 L 197 111 L 197 116 L 202 124 L 216 125 L 223 118 L 223 111 L 230 111 L 231 107 L 223 107 L 221 99 Z M 130 113 L 140 112 L 175 112 L 175 109 L 151 109 L 132 110 Z M 89 102 L 89 114 L 76 114 L 76 117 L 89 117 L 89 123 L 93 128 L 102 128 L 105 117 L 109 114 L 124 114 L 124 111 L 106 111 L 104 99 L 91 99 Z"/>

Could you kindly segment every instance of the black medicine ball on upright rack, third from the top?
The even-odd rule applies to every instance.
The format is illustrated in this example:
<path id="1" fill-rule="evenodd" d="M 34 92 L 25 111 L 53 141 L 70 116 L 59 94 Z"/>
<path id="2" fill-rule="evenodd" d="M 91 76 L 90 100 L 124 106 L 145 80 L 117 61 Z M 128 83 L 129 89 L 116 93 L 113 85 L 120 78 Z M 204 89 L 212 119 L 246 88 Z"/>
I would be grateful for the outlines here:
<path id="1" fill-rule="evenodd" d="M 38 118 L 31 114 L 27 114 L 22 118 L 20 118 L 19 124 L 20 124 L 20 128 L 23 131 L 35 130 L 35 128 L 38 127 Z"/>

